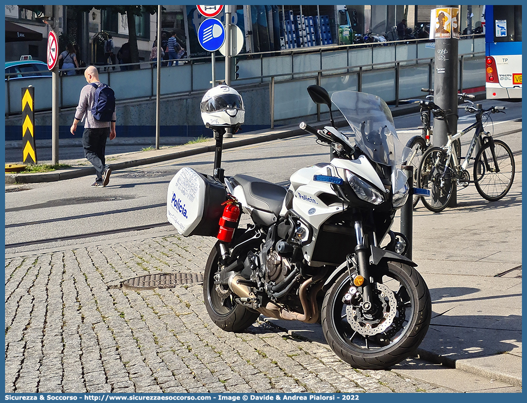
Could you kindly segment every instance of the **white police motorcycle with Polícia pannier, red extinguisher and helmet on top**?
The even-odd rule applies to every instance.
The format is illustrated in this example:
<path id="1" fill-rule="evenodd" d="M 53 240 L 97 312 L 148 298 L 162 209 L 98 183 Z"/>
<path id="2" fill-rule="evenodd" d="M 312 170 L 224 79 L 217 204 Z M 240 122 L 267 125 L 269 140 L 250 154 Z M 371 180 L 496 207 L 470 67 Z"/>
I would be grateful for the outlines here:
<path id="1" fill-rule="evenodd" d="M 338 91 L 330 98 L 318 85 L 308 92 L 328 105 L 331 126 L 300 128 L 333 149 L 331 162 L 296 171 L 288 189 L 243 174 L 222 183 L 222 170 L 211 177 L 184 167 L 170 182 L 167 217 L 184 236 L 218 238 L 203 281 L 218 327 L 239 332 L 260 314 L 318 322 L 341 359 L 386 369 L 417 349 L 432 313 L 426 283 L 404 256 L 408 240 L 390 229 L 409 195 L 399 167 L 411 150 L 376 95 Z M 335 128 L 333 105 L 355 144 Z M 201 112 L 220 139 L 243 123 L 245 111 L 239 94 L 221 85 L 203 97 Z M 249 224 L 240 225 L 241 214 Z"/>

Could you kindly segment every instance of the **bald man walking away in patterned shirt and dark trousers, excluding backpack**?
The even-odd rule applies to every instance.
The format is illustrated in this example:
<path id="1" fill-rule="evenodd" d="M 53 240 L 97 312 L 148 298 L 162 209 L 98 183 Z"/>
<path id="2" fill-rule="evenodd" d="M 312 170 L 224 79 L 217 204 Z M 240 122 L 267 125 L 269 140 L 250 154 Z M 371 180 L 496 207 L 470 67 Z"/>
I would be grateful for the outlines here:
<path id="1" fill-rule="evenodd" d="M 106 165 L 104 151 L 106 148 L 106 139 L 108 137 L 110 137 L 110 140 L 115 138 L 115 109 L 109 122 L 94 118 L 92 108 L 95 103 L 95 91 L 97 90 L 97 86 L 101 84 L 99 81 L 99 72 L 97 72 L 95 66 L 88 66 L 84 71 L 84 77 L 88 84 L 81 90 L 79 105 L 77 106 L 70 132 L 75 136 L 77 123 L 86 114 L 84 132 L 82 133 L 84 156 L 95 168 L 96 179 L 92 187 L 104 187 L 110 182 L 110 174 L 112 173 L 110 166 Z"/>

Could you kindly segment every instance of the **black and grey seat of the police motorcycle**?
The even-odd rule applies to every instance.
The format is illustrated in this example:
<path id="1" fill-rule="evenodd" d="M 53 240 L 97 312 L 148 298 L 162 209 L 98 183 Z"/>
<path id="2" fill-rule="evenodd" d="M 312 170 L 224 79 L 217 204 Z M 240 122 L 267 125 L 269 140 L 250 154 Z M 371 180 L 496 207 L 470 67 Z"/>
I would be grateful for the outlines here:
<path id="1" fill-rule="evenodd" d="M 280 214 L 287 194 L 285 188 L 249 175 L 235 175 L 233 179 L 243 188 L 250 206 L 275 216 Z"/>

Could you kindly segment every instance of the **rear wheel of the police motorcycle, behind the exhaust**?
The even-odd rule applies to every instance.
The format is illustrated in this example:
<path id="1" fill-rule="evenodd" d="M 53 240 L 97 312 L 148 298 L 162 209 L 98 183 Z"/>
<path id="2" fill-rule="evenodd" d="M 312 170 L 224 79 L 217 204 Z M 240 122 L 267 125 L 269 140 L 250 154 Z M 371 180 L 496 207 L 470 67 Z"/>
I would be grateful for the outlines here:
<path id="1" fill-rule="evenodd" d="M 225 298 L 217 291 L 214 284 L 214 275 L 219 271 L 219 252 L 217 245 L 214 245 L 210 252 L 203 275 L 203 300 L 210 319 L 220 328 L 227 332 L 239 332 L 247 329 L 256 321 L 260 314 L 250 311 L 244 306 L 237 304 L 233 299 L 232 292 L 228 292 L 226 286 Z M 228 295 L 226 295 L 228 294 Z"/>

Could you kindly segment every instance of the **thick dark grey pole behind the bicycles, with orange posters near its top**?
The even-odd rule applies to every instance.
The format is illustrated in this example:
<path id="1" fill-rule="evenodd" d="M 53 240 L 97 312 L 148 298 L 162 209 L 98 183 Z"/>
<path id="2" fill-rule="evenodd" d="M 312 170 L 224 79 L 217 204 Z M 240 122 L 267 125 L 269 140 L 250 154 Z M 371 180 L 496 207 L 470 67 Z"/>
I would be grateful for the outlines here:
<path id="1" fill-rule="evenodd" d="M 436 6 L 437 8 L 457 8 L 457 6 Z M 458 14 L 459 16 L 459 14 Z M 435 29 L 432 24 L 431 29 Z M 435 73 L 434 73 L 434 102 L 441 109 L 452 112 L 447 118 L 448 128 L 452 133 L 457 129 L 457 55 L 458 39 L 453 37 L 452 26 L 450 37 L 435 40 Z M 436 33 L 437 35 L 437 33 Z M 448 141 L 446 122 L 434 119 L 434 147 L 446 145 Z M 457 205 L 456 187 L 449 207 Z"/>

